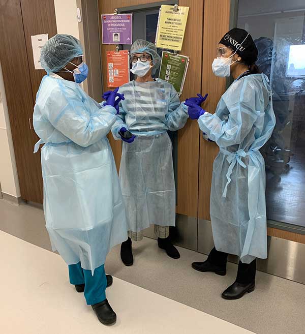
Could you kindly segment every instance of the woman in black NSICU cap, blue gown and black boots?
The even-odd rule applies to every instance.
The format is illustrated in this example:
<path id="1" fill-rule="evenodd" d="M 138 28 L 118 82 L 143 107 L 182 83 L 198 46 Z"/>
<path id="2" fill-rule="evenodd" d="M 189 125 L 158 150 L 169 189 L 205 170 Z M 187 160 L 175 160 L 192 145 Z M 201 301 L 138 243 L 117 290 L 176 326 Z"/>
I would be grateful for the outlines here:
<path id="1" fill-rule="evenodd" d="M 265 164 L 259 149 L 275 127 L 271 89 L 255 62 L 258 51 L 252 37 L 233 28 L 221 39 L 212 71 L 234 81 L 211 114 L 200 98 L 185 103 L 198 119 L 204 138 L 220 152 L 214 161 L 210 216 L 215 248 L 199 271 L 226 275 L 228 254 L 239 257 L 237 277 L 222 297 L 237 299 L 255 288 L 256 258 L 267 258 Z"/>

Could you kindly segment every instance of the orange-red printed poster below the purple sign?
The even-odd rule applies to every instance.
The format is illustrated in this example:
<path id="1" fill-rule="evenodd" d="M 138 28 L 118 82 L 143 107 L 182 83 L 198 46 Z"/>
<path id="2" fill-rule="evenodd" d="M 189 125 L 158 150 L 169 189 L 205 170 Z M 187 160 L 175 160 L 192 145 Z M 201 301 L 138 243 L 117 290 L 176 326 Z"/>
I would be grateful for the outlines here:
<path id="1" fill-rule="evenodd" d="M 129 51 L 107 51 L 107 87 L 129 82 Z"/>

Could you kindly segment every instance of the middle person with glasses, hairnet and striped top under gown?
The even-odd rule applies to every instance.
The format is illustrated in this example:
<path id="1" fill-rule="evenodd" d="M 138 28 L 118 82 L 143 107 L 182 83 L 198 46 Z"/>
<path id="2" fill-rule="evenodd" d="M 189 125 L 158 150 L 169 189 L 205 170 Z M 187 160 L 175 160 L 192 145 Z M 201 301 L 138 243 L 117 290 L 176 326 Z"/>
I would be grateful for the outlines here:
<path id="1" fill-rule="evenodd" d="M 181 129 L 189 117 L 173 85 L 153 78 L 161 60 L 153 43 L 136 40 L 130 60 L 135 80 L 119 87 L 125 100 L 119 103 L 111 130 L 116 140 L 123 141 L 119 179 L 129 237 L 120 255 L 127 266 L 133 264 L 132 240 L 142 240 L 150 225 L 155 225 L 159 248 L 173 259 L 180 257 L 169 237 L 169 226 L 175 226 L 176 193 L 167 131 Z"/>

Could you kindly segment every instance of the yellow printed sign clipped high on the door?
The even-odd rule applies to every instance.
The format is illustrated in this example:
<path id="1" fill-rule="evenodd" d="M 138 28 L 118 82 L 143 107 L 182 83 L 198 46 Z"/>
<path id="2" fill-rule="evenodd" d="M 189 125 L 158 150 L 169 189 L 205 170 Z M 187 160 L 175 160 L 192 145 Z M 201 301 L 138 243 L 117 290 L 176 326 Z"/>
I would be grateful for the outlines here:
<path id="1" fill-rule="evenodd" d="M 189 7 L 162 5 L 159 11 L 156 46 L 181 51 Z"/>

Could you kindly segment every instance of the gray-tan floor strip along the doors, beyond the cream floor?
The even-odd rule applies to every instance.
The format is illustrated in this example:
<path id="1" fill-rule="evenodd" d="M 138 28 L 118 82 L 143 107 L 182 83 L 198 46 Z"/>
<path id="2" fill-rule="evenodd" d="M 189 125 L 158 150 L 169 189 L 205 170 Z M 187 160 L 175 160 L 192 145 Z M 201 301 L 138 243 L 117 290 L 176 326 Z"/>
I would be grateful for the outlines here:
<path id="1" fill-rule="evenodd" d="M 0 230 L 50 250 L 44 225 L 41 207 L 15 206 L 0 200 Z M 172 260 L 158 249 L 156 240 L 149 238 L 134 242 L 133 249 L 135 263 L 125 267 L 119 258 L 119 246 L 115 247 L 106 261 L 107 273 L 257 334 L 305 333 L 305 285 L 258 271 L 253 293 L 227 301 L 220 295 L 235 279 L 235 264 L 228 263 L 227 276 L 220 277 L 191 268 L 193 261 L 206 258 L 197 252 L 179 248 L 181 258 Z M 5 254 L 3 250 L 1 253 Z M 144 311 L 139 306 L 139 312 Z"/>

